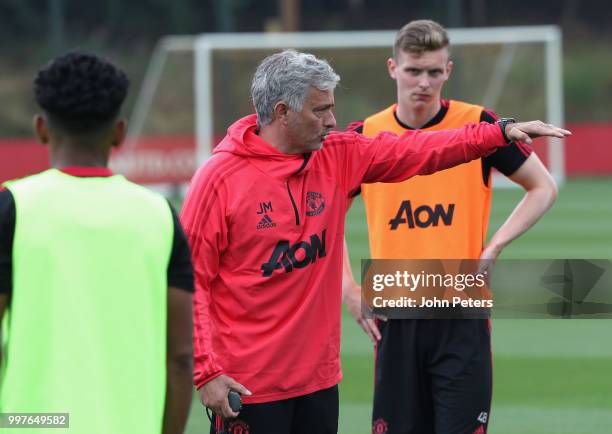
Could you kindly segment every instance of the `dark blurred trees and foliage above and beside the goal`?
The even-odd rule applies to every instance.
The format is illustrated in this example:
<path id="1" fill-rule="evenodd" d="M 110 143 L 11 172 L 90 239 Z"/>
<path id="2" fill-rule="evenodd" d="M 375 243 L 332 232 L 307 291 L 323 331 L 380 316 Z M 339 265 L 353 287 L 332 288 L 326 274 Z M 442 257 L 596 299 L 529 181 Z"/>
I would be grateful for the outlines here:
<path id="1" fill-rule="evenodd" d="M 68 49 L 96 51 L 127 71 L 129 113 L 167 34 L 397 30 L 418 18 L 447 27 L 561 26 L 566 121 L 612 118 L 612 3 L 603 0 L 0 0 L 0 17 L 0 137 L 30 134 L 32 77 Z"/>

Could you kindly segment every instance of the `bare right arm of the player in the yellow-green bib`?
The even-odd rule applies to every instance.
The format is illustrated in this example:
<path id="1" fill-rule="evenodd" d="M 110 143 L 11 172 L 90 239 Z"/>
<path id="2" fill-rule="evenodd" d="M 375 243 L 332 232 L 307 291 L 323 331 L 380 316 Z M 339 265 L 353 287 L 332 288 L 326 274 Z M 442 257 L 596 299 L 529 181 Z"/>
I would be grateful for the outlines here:
<path id="1" fill-rule="evenodd" d="M 163 434 L 185 430 L 193 396 L 192 294 L 168 288 L 166 406 Z"/>

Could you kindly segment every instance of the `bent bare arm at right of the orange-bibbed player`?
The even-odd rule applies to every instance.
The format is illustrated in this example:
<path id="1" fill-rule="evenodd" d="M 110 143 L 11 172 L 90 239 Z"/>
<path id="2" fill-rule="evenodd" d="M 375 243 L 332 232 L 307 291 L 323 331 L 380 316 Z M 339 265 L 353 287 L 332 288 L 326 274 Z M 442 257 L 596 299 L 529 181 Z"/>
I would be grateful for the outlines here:
<path id="1" fill-rule="evenodd" d="M 525 196 L 495 232 L 481 259 L 494 260 L 513 240 L 531 228 L 550 209 L 557 198 L 557 186 L 535 153 L 510 176 L 525 190 Z"/>

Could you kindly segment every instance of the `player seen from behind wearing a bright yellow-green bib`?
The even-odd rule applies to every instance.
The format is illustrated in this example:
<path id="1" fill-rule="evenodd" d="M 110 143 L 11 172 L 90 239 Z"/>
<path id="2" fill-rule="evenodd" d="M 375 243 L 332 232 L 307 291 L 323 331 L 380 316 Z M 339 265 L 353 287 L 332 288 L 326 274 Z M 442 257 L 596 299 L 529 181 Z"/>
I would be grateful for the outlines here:
<path id="1" fill-rule="evenodd" d="M 35 413 L 22 434 L 184 431 L 191 254 L 166 199 L 107 167 L 128 85 L 89 53 L 40 70 L 52 168 L 0 188 L 0 413 Z"/>

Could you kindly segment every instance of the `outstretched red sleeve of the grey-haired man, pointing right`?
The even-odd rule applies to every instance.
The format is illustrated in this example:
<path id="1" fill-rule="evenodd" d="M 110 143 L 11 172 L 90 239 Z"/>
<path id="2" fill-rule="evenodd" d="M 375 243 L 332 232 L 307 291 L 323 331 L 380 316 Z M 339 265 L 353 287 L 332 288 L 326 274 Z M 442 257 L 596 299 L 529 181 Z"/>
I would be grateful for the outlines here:
<path id="1" fill-rule="evenodd" d="M 486 122 L 463 128 L 424 132 L 409 130 L 401 136 L 380 133 L 370 139 L 356 133 L 330 135 L 330 144 L 345 141 L 349 195 L 362 183 L 399 182 L 429 175 L 484 157 L 506 146 L 498 125 Z"/>

